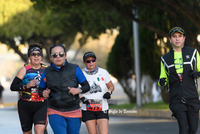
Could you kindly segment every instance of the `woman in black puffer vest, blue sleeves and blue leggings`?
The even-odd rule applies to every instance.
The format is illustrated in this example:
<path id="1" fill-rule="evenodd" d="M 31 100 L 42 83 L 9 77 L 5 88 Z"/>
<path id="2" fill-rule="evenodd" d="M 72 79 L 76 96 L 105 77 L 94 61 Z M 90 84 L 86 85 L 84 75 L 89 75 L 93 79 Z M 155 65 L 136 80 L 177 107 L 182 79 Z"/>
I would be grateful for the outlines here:
<path id="1" fill-rule="evenodd" d="M 40 96 L 48 97 L 49 124 L 54 134 L 79 134 L 79 93 L 89 91 L 89 84 L 78 65 L 67 62 L 63 45 L 51 46 L 50 55 L 51 66 L 43 72 L 39 87 Z"/>

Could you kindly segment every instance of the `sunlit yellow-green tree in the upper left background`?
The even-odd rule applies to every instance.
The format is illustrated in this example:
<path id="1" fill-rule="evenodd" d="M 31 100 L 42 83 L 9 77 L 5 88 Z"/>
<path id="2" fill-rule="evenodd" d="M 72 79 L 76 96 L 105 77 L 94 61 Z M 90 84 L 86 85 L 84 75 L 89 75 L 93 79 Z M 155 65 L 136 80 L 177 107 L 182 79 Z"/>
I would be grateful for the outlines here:
<path id="1" fill-rule="evenodd" d="M 75 16 L 73 18 L 67 14 L 51 14 L 50 10 L 36 11 L 30 0 L 0 1 L 0 12 L 2 13 L 0 15 L 0 41 L 14 49 L 24 62 L 27 62 L 28 58 L 20 51 L 15 39 L 18 39 L 20 44 L 34 42 L 43 44 L 47 53 L 44 58 L 48 62 L 49 47 L 52 44 L 61 43 L 65 44 L 68 49 L 78 31 L 76 28 L 79 25 L 76 26 L 76 23 L 73 23 L 74 28 L 70 27 L 72 20 L 77 21 Z M 68 16 L 69 19 L 66 19 L 63 25 L 59 25 L 59 21 L 63 21 L 63 16 Z M 81 43 L 83 44 L 83 40 Z"/>

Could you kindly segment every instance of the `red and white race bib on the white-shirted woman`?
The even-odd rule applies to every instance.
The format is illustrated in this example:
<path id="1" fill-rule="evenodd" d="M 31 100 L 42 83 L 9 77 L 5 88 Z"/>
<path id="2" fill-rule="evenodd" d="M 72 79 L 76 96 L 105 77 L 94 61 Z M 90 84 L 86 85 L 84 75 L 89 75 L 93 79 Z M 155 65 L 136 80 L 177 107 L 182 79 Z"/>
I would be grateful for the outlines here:
<path id="1" fill-rule="evenodd" d="M 90 104 L 87 104 L 88 111 L 102 111 L 102 100 L 91 99 Z"/>

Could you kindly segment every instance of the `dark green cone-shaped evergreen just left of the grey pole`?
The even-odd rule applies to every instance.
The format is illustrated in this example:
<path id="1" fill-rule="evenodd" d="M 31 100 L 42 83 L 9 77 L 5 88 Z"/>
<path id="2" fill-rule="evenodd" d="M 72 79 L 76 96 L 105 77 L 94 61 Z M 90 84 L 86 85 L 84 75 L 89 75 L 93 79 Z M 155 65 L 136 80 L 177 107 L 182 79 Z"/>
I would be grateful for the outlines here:
<path id="1" fill-rule="evenodd" d="M 108 71 L 118 80 L 126 80 L 132 77 L 133 58 L 129 41 L 132 38 L 131 23 L 127 22 L 127 27 L 120 29 L 120 34 L 115 40 L 111 53 L 108 57 Z M 127 29 L 129 28 L 129 29 Z"/>

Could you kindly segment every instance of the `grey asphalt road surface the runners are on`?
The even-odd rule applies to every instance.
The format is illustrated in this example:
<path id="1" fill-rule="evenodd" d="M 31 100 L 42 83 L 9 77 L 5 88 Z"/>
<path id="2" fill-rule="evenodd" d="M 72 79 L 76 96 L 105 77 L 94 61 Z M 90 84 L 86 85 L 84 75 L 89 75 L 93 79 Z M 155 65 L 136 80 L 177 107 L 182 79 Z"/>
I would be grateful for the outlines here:
<path id="1" fill-rule="evenodd" d="M 199 123 L 200 124 L 200 123 Z M 48 125 L 49 134 L 53 134 Z M 21 134 L 16 106 L 0 109 L 0 133 Z M 176 120 L 164 118 L 136 118 L 110 116 L 109 134 L 178 134 Z M 197 132 L 200 133 L 200 130 Z M 88 134 L 84 123 L 80 134 Z"/>

